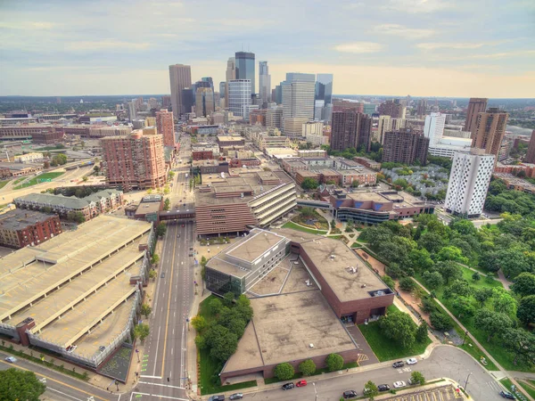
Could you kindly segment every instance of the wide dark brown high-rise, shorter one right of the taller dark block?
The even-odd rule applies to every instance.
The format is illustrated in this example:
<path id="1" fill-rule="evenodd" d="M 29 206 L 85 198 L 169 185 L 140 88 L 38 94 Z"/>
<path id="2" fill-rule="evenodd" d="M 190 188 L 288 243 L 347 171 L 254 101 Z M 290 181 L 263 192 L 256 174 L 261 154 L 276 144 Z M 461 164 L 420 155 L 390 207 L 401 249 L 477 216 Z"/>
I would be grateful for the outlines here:
<path id="1" fill-rule="evenodd" d="M 429 138 L 405 128 L 389 131 L 384 135 L 383 162 L 413 164 L 416 160 L 424 166 L 427 162 Z"/>

